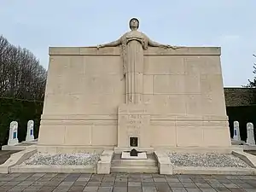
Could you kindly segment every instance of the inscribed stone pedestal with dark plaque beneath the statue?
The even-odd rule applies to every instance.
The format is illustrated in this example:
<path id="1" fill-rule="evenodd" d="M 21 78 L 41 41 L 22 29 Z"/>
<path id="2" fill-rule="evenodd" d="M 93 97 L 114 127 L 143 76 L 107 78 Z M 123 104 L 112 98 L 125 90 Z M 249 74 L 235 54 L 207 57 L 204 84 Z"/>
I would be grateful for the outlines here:
<path id="1" fill-rule="evenodd" d="M 122 104 L 118 109 L 118 147 L 150 148 L 150 115 L 144 104 Z"/>

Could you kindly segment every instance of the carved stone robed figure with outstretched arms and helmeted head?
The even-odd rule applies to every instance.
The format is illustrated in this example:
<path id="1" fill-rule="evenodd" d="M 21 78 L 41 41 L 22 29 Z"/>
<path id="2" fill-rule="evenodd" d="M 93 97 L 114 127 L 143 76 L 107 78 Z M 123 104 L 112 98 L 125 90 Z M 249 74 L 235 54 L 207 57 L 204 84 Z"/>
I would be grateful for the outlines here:
<path id="1" fill-rule="evenodd" d="M 97 49 L 121 45 L 126 103 L 139 103 L 143 102 L 143 50 L 148 49 L 148 46 L 163 47 L 166 49 L 177 49 L 177 47 L 159 44 L 148 38 L 143 32 L 139 32 L 139 20 L 137 18 L 132 18 L 129 25 L 131 28 L 130 32 L 126 32 L 116 41 L 98 45 Z"/>

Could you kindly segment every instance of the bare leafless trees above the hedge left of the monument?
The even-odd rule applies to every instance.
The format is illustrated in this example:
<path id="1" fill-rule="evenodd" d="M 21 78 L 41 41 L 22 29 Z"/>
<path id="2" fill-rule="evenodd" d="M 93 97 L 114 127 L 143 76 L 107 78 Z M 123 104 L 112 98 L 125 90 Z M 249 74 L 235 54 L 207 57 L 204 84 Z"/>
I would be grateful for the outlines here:
<path id="1" fill-rule="evenodd" d="M 43 100 L 47 72 L 28 49 L 0 36 L 0 96 Z"/>

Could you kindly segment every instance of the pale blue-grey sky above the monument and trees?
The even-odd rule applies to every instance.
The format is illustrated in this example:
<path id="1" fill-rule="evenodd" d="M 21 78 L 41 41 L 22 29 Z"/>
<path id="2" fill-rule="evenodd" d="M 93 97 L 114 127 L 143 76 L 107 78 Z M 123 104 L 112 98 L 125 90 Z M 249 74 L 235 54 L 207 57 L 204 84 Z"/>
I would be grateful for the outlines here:
<path id="1" fill-rule="evenodd" d="M 0 0 L 0 34 L 48 67 L 49 46 L 106 43 L 129 30 L 163 44 L 221 46 L 224 86 L 253 78 L 255 0 Z"/>

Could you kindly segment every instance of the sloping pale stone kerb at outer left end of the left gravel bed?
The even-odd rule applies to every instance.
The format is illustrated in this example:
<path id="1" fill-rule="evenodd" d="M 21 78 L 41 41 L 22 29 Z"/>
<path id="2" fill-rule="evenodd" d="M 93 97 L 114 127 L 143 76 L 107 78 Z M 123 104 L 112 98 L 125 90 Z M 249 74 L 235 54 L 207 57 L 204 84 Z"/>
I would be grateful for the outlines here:
<path id="1" fill-rule="evenodd" d="M 11 154 L 9 159 L 0 165 L 0 173 L 9 173 L 13 166 L 20 165 L 37 152 L 36 149 L 26 149 L 15 154 Z"/>

